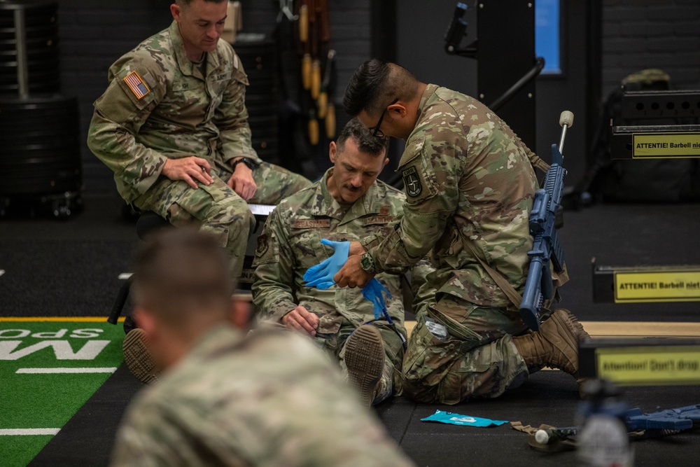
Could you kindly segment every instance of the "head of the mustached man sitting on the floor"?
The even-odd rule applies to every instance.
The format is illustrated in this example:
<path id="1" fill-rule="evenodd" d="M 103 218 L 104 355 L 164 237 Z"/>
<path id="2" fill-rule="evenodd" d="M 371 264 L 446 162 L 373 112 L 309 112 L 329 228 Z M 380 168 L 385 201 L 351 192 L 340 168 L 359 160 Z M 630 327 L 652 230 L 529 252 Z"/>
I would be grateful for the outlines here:
<path id="1" fill-rule="evenodd" d="M 328 191 L 337 202 L 356 202 L 367 193 L 388 162 L 388 138 L 373 137 L 357 118 L 342 129 L 337 141 L 330 142 L 328 155 L 333 173 Z"/>

